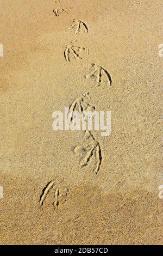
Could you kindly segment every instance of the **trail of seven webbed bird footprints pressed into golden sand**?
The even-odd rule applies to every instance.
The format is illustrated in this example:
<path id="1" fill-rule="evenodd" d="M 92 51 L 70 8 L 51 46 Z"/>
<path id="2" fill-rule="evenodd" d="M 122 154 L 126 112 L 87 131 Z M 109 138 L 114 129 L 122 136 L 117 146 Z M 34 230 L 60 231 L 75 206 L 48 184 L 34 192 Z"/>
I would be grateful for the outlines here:
<path id="1" fill-rule="evenodd" d="M 60 5 L 54 8 L 53 13 L 54 16 L 59 18 L 61 15 L 68 14 L 68 11 L 61 7 L 60 0 L 55 1 L 56 4 Z M 86 23 L 81 20 L 72 20 L 72 24 L 68 29 L 71 29 L 74 34 L 79 34 L 82 32 L 89 33 L 89 28 L 87 27 Z M 87 55 L 89 55 L 89 49 L 83 46 L 78 46 L 77 39 L 72 40 L 67 44 L 67 47 L 64 51 L 64 57 L 66 62 L 71 62 L 72 60 L 76 59 L 82 59 L 82 53 L 86 52 Z M 90 63 L 89 64 L 89 73 L 85 75 L 85 78 L 96 78 L 96 87 L 102 86 L 104 82 L 106 85 L 111 86 L 112 84 L 112 78 L 109 74 L 109 72 L 104 69 L 101 65 L 98 65 L 96 63 Z M 86 111 L 95 111 L 96 107 L 93 105 L 90 99 L 90 92 L 85 92 L 81 96 L 77 97 L 76 100 L 74 100 L 69 108 L 68 113 L 68 120 L 71 123 L 73 121 L 73 112 L 78 111 L 80 115 L 85 117 Z M 95 139 L 93 134 L 88 131 L 84 130 L 84 137 L 79 145 L 75 146 L 73 148 L 74 154 L 77 154 L 79 156 L 79 166 L 80 168 L 84 168 L 89 166 L 91 162 L 93 163 L 93 173 L 98 174 L 101 165 L 102 165 L 102 150 L 99 142 Z M 67 201 L 68 199 L 68 188 L 62 188 L 60 184 L 56 180 L 52 180 L 48 182 L 48 184 L 43 188 L 41 196 L 40 196 L 40 206 L 41 208 L 44 208 L 46 205 L 47 198 L 50 193 L 53 193 L 53 209 L 54 212 L 57 212 L 60 208 L 60 206 Z"/>

